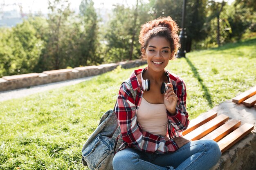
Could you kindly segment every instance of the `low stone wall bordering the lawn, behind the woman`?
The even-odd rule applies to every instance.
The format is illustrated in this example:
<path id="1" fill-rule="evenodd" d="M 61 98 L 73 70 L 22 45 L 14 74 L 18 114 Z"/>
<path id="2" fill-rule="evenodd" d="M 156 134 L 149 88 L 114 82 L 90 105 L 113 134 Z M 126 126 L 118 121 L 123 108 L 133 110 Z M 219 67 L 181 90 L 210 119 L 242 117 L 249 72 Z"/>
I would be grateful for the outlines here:
<path id="1" fill-rule="evenodd" d="M 76 67 L 73 69 L 61 69 L 54 71 L 44 71 L 43 73 L 29 73 L 24 75 L 5 76 L 0 78 L 0 91 L 8 91 L 17 88 L 25 88 L 40 84 L 65 81 L 68 79 L 77 79 L 99 75 L 112 71 L 117 66 L 122 68 L 133 68 L 146 64 L 146 61 L 134 60 L 128 62 L 119 62 L 111 64 L 101 64 L 99 66 Z"/>

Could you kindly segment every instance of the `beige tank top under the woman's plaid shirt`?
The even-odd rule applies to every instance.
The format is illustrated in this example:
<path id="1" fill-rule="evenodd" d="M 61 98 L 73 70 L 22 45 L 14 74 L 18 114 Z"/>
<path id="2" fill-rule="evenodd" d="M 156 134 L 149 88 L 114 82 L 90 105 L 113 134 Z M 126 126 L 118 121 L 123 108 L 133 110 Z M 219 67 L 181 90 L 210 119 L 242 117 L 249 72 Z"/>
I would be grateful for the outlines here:
<path id="1" fill-rule="evenodd" d="M 137 111 L 137 121 L 142 130 L 153 135 L 161 135 L 169 139 L 167 133 L 168 118 L 164 104 L 148 103 L 143 97 Z"/>

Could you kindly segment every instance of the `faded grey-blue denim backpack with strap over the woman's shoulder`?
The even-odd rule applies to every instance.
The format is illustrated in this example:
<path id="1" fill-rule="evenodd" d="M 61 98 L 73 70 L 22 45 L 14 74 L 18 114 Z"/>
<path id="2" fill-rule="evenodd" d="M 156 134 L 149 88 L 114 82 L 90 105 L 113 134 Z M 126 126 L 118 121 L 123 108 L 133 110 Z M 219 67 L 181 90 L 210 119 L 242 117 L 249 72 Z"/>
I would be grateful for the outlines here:
<path id="1" fill-rule="evenodd" d="M 130 86 L 133 99 L 135 99 L 136 92 L 132 90 L 130 79 L 127 79 L 125 83 Z M 113 170 L 112 160 L 115 151 L 123 142 L 121 135 L 117 141 L 120 133 L 115 112 L 108 110 L 102 115 L 96 130 L 83 145 L 83 166 L 88 166 L 90 170 Z"/>

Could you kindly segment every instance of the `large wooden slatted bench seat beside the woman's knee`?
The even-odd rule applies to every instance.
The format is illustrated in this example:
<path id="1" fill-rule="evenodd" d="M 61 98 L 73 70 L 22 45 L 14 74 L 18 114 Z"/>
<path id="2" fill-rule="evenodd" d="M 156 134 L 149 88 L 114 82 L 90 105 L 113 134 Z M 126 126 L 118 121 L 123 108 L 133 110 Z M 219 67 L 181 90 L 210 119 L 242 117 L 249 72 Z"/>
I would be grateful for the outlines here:
<path id="1" fill-rule="evenodd" d="M 214 140 L 223 153 L 254 129 L 254 125 L 251 124 L 240 125 L 241 121 L 239 120 L 230 119 L 223 114 L 217 116 L 216 112 L 209 111 L 191 120 L 188 128 L 182 134 L 184 138 L 192 141 Z"/>

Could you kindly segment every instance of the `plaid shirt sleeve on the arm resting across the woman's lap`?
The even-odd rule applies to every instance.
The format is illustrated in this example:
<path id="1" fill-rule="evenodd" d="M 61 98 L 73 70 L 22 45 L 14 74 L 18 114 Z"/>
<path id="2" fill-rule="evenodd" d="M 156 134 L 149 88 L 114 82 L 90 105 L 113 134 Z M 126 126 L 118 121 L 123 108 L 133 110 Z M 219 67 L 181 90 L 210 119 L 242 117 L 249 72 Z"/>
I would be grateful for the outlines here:
<path id="1" fill-rule="evenodd" d="M 121 128 L 121 135 L 128 147 L 142 152 L 158 154 L 174 152 L 178 149 L 173 139 L 166 141 L 164 137 L 143 131 L 137 123 L 136 105 L 130 87 L 123 83 L 117 97 L 115 113 Z"/>

